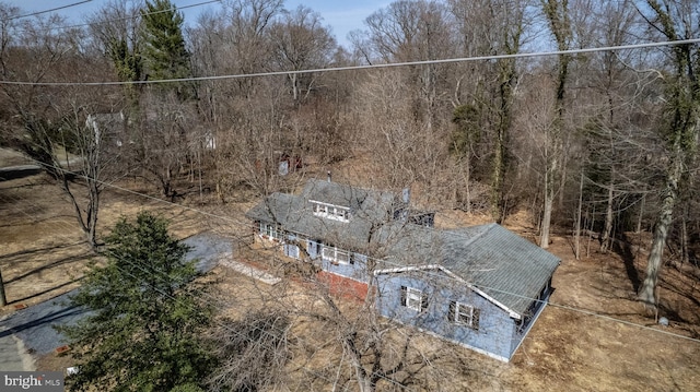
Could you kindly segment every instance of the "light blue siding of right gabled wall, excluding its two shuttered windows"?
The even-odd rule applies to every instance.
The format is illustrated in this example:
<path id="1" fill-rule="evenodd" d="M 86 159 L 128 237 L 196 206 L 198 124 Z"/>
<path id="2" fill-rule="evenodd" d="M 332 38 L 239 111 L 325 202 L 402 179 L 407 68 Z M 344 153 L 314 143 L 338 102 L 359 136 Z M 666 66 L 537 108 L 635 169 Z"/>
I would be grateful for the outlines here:
<path id="1" fill-rule="evenodd" d="M 432 332 L 503 360 L 509 360 L 512 351 L 517 347 L 513 341 L 515 320 L 486 298 L 447 276 L 425 281 L 409 273 L 381 274 L 376 276 L 376 285 L 377 310 L 386 318 Z M 418 312 L 401 306 L 401 286 L 428 294 L 428 309 Z M 478 330 L 448 320 L 451 301 L 459 301 L 480 310 Z"/>

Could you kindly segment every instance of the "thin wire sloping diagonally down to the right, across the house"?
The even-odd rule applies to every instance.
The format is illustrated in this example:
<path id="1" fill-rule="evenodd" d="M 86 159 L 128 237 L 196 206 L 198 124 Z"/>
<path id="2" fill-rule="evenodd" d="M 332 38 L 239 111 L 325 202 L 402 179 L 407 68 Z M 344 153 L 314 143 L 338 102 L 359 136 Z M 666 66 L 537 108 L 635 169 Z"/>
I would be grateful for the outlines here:
<path id="1" fill-rule="evenodd" d="M 71 175 L 73 175 L 75 177 L 90 179 L 88 176 L 85 176 L 85 175 L 83 175 L 81 173 L 66 170 L 63 168 L 56 167 L 54 165 L 48 165 L 48 164 L 43 164 L 43 163 L 38 163 L 38 164 L 42 165 L 42 166 L 51 167 L 54 169 L 65 171 L 67 174 L 71 174 Z M 132 191 L 130 189 L 126 189 L 126 188 L 122 188 L 122 187 L 119 187 L 119 186 L 116 186 L 116 185 L 113 185 L 113 183 L 104 182 L 104 181 L 101 181 L 101 180 L 95 180 L 95 181 L 101 183 L 101 185 L 103 185 L 103 186 L 105 186 L 105 187 L 108 187 L 108 188 L 114 188 L 114 189 L 117 189 L 117 190 L 120 190 L 120 191 L 124 191 L 124 192 L 128 192 L 128 193 L 136 194 L 136 195 L 142 197 L 142 198 L 149 199 L 149 200 L 153 200 L 153 201 L 156 201 L 156 202 L 160 202 L 160 203 L 164 203 L 164 204 L 172 205 L 172 206 L 177 206 L 177 207 L 183 209 L 183 210 L 187 210 L 187 211 L 191 211 L 191 212 L 195 212 L 195 213 L 198 213 L 198 214 L 202 214 L 205 216 L 218 218 L 218 219 L 221 219 L 221 221 L 224 221 L 224 222 L 228 222 L 228 223 L 233 223 L 233 224 L 235 224 L 237 226 L 242 226 L 244 228 L 249 228 L 250 227 L 249 223 L 244 223 L 244 222 L 241 222 L 241 221 L 228 217 L 228 216 L 217 215 L 217 214 L 212 214 L 212 213 L 209 213 L 209 212 L 206 212 L 206 211 L 202 211 L 202 210 L 198 210 L 198 209 L 195 209 L 195 207 L 191 207 L 191 206 L 180 205 L 180 204 L 177 204 L 177 203 L 174 203 L 174 202 L 170 202 L 167 200 L 163 200 L 163 199 L 159 199 L 159 198 L 155 198 L 155 197 L 152 197 L 152 195 L 149 195 L 149 194 L 144 194 L 144 193 L 140 193 L 140 192 L 137 192 L 137 191 Z M 285 230 L 285 233 L 298 235 L 298 236 L 310 237 L 308 234 L 300 233 L 300 231 Z M 468 237 L 468 236 L 466 236 L 466 235 L 464 235 L 462 233 L 447 231 L 447 234 L 454 235 L 454 236 L 456 236 L 458 238 L 464 238 L 465 240 L 471 239 L 471 237 Z M 390 260 L 386 260 L 386 259 L 378 259 L 378 258 L 374 258 L 374 257 L 370 257 L 370 256 L 366 256 L 366 258 L 368 258 L 368 260 L 373 260 L 373 261 L 376 261 L 376 262 L 382 262 L 382 263 L 385 263 L 385 264 L 395 265 L 397 268 L 406 266 L 405 264 L 401 264 L 401 263 L 398 263 L 398 262 L 395 262 L 395 261 L 390 261 Z M 432 271 L 429 271 L 429 270 L 418 270 L 416 272 L 425 274 L 428 276 L 433 276 L 433 277 L 440 278 L 440 280 L 444 280 L 445 278 L 444 275 L 436 274 L 436 273 L 434 273 Z M 617 319 L 617 318 L 610 317 L 608 314 L 603 314 L 603 313 L 595 312 L 593 310 L 575 308 L 575 307 L 572 307 L 572 306 L 569 306 L 569 305 L 557 304 L 557 302 L 551 302 L 551 301 L 544 301 L 544 300 L 541 300 L 539 298 L 532 298 L 532 297 L 523 296 L 523 295 L 517 294 L 517 293 L 511 293 L 511 292 L 506 292 L 506 290 L 502 290 L 502 289 L 498 289 L 498 288 L 489 287 L 489 286 L 485 286 L 485 285 L 475 285 L 475 286 L 477 288 L 480 288 L 480 289 L 488 289 L 488 290 L 493 290 L 493 292 L 499 292 L 499 293 L 502 293 L 502 294 L 511 295 L 511 296 L 514 296 L 514 297 L 525 298 L 525 299 L 533 300 L 533 301 L 546 302 L 546 304 L 552 305 L 555 307 L 558 307 L 558 308 L 561 308 L 561 309 L 565 309 L 565 310 L 570 310 L 570 311 L 574 311 L 574 312 L 579 312 L 579 313 L 582 313 L 582 314 L 593 316 L 593 317 L 597 317 L 597 318 L 605 319 L 605 320 L 608 320 L 608 321 L 615 321 L 615 322 L 619 322 L 619 323 L 627 324 L 627 325 L 630 325 L 630 326 L 637 326 L 637 328 L 640 328 L 642 330 L 649 330 L 649 331 L 653 331 L 653 332 L 658 332 L 658 333 L 663 333 L 663 334 L 666 334 L 666 335 L 670 335 L 670 336 L 679 337 L 679 338 L 682 338 L 682 340 L 691 341 L 691 342 L 695 342 L 695 343 L 700 343 L 700 338 L 693 338 L 693 337 L 685 336 L 685 335 L 681 335 L 681 334 L 677 334 L 677 333 L 673 333 L 673 332 L 668 332 L 668 331 L 654 329 L 654 328 L 651 328 L 651 326 L 648 326 L 648 325 L 638 324 L 638 323 L 634 323 L 634 322 L 631 322 L 631 321 Z"/>

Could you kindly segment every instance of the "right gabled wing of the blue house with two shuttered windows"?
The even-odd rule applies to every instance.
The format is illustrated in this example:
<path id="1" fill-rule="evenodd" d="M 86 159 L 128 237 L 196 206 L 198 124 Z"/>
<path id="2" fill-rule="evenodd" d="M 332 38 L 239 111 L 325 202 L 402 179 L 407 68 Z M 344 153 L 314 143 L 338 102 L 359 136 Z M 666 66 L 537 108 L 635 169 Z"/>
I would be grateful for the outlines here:
<path id="1" fill-rule="evenodd" d="M 552 293 L 559 259 L 494 223 L 402 233 L 377 263 L 377 311 L 510 360 Z M 397 236 L 398 237 L 398 236 Z"/>

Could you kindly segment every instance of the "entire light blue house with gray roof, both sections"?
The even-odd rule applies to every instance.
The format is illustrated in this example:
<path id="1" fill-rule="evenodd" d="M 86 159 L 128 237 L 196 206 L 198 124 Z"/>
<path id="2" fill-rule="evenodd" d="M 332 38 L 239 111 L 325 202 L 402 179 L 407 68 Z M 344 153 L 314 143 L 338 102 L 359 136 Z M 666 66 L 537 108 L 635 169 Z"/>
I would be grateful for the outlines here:
<path id="1" fill-rule="evenodd" d="M 400 194 L 310 180 L 246 216 L 257 238 L 319 265 L 336 290 L 396 322 L 508 361 L 552 293 L 560 260 L 497 224 L 438 229 Z"/>

